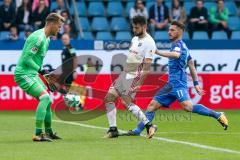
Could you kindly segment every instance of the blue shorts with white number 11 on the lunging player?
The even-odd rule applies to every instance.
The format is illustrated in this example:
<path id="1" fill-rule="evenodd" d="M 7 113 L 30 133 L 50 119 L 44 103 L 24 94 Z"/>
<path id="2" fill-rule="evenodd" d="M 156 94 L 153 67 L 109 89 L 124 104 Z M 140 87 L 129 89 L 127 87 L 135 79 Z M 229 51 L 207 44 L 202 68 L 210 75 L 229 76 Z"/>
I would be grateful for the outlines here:
<path id="1" fill-rule="evenodd" d="M 153 99 L 163 105 L 163 107 L 168 108 L 175 100 L 178 100 L 178 102 L 187 101 L 190 100 L 190 96 L 188 88 L 175 88 L 170 84 L 166 84 L 155 94 Z"/>

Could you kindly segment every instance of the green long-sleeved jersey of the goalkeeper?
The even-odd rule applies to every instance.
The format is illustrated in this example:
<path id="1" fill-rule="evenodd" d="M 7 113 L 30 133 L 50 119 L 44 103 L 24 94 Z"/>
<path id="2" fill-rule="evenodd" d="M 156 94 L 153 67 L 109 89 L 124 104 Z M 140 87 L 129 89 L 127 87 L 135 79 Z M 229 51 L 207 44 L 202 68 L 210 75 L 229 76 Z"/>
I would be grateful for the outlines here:
<path id="1" fill-rule="evenodd" d="M 48 50 L 49 42 L 50 38 L 46 37 L 44 29 L 33 32 L 24 44 L 14 74 L 38 74 Z"/>

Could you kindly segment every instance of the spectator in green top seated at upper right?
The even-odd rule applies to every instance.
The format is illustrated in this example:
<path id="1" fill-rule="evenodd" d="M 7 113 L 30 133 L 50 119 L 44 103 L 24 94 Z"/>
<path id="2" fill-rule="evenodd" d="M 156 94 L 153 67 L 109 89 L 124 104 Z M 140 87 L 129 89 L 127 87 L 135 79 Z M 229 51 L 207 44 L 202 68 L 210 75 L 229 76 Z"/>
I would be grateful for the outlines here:
<path id="1" fill-rule="evenodd" d="M 228 28 L 228 9 L 224 7 L 224 1 L 218 0 L 217 6 L 210 9 L 210 23 L 212 25 L 212 30 L 224 30 L 228 38 L 231 36 L 231 31 Z"/>

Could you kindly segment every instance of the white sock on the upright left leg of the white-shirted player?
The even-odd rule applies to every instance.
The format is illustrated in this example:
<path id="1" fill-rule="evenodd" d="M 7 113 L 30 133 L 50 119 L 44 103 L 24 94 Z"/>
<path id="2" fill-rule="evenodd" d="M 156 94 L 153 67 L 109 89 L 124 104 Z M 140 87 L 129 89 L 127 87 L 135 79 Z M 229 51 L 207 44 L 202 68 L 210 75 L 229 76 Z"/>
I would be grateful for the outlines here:
<path id="1" fill-rule="evenodd" d="M 107 103 L 106 104 L 107 109 L 107 117 L 108 117 L 108 123 L 110 127 L 117 127 L 117 109 L 115 107 L 115 103 Z"/>

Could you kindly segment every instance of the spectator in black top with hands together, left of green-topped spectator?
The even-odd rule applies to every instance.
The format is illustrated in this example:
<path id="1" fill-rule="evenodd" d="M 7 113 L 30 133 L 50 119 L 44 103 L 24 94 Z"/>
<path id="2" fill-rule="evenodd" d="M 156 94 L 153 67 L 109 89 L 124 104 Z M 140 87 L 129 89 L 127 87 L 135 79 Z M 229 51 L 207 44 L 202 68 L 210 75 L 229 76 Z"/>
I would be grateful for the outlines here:
<path id="1" fill-rule="evenodd" d="M 194 31 L 208 31 L 208 11 L 203 6 L 203 0 L 197 0 L 189 15 L 189 35 L 192 38 Z"/>

